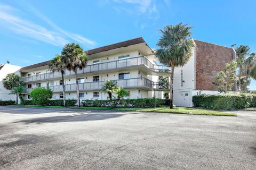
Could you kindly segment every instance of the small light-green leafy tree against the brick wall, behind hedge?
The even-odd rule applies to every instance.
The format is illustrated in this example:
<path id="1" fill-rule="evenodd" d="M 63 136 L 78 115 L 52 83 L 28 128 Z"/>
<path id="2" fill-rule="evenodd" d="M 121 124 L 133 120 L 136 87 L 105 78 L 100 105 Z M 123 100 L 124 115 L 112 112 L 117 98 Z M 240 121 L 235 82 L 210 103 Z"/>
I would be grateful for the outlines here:
<path id="1" fill-rule="evenodd" d="M 212 83 L 218 86 L 219 92 L 231 91 L 236 80 L 236 62 L 232 60 L 230 64 L 227 63 L 226 67 L 217 73 L 216 79 L 217 81 Z"/>

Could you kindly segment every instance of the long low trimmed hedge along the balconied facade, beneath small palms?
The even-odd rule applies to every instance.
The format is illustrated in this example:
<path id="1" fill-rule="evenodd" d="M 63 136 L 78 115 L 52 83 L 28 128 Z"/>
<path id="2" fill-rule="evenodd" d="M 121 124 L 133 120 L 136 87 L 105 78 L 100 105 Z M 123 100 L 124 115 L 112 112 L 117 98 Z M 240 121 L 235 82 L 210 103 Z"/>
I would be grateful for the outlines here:
<path id="1" fill-rule="evenodd" d="M 116 99 L 110 100 L 83 100 L 83 106 L 93 107 L 154 107 L 154 98 L 139 98 L 139 99 L 121 99 L 117 102 Z M 164 105 L 164 100 L 156 98 L 156 107 Z"/>

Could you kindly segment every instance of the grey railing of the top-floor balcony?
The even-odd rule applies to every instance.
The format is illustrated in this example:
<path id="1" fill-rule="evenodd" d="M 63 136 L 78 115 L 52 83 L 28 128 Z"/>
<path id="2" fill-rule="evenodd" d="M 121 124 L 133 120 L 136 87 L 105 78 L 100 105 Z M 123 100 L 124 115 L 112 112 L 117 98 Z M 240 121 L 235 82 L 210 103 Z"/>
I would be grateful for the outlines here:
<path id="1" fill-rule="evenodd" d="M 82 70 L 78 69 L 77 74 L 114 70 L 122 67 L 137 66 L 142 64 L 146 65 L 153 72 L 159 72 L 159 73 L 171 72 L 167 66 L 152 64 L 145 56 L 141 56 L 141 57 L 128 58 L 125 60 L 117 60 L 117 61 L 111 61 L 106 63 L 87 65 Z M 65 71 L 65 76 L 74 75 L 74 74 L 75 74 L 74 71 L 68 71 L 68 70 Z M 21 78 L 21 80 L 24 82 L 30 82 L 30 81 L 39 81 L 39 80 L 54 79 L 54 78 L 61 78 L 61 73 L 50 72 L 50 73 L 32 75 L 29 77 L 23 77 Z"/>

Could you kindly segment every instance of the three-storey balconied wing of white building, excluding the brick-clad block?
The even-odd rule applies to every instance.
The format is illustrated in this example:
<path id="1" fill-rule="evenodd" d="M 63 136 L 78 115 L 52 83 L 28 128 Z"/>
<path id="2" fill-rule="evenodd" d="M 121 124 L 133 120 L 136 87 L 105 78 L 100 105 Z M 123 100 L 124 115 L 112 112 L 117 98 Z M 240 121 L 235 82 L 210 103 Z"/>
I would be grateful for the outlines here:
<path id="1" fill-rule="evenodd" d="M 130 91 L 128 98 L 162 98 L 170 86 L 159 86 L 158 76 L 169 77 L 170 69 L 157 65 L 153 50 L 143 38 L 135 38 L 86 51 L 87 66 L 78 70 L 79 97 L 84 99 L 107 99 L 107 94 L 100 91 L 105 80 L 115 80 L 117 85 Z M 66 98 L 77 99 L 75 74 L 65 71 L 65 82 L 61 73 L 49 70 L 49 61 L 29 65 L 20 69 L 22 80 L 26 83 L 25 98 L 36 87 L 47 87 L 54 92 L 52 99 L 63 98 L 62 83 L 65 83 Z"/>

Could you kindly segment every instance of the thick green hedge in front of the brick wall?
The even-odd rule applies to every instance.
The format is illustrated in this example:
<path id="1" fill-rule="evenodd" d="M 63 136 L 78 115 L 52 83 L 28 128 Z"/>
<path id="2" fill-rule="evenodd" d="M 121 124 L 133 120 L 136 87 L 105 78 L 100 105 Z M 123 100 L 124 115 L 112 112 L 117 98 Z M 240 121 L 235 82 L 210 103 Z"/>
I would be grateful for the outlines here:
<path id="1" fill-rule="evenodd" d="M 252 94 L 220 94 L 193 96 L 195 107 L 210 109 L 236 110 L 256 107 L 256 95 Z"/>

